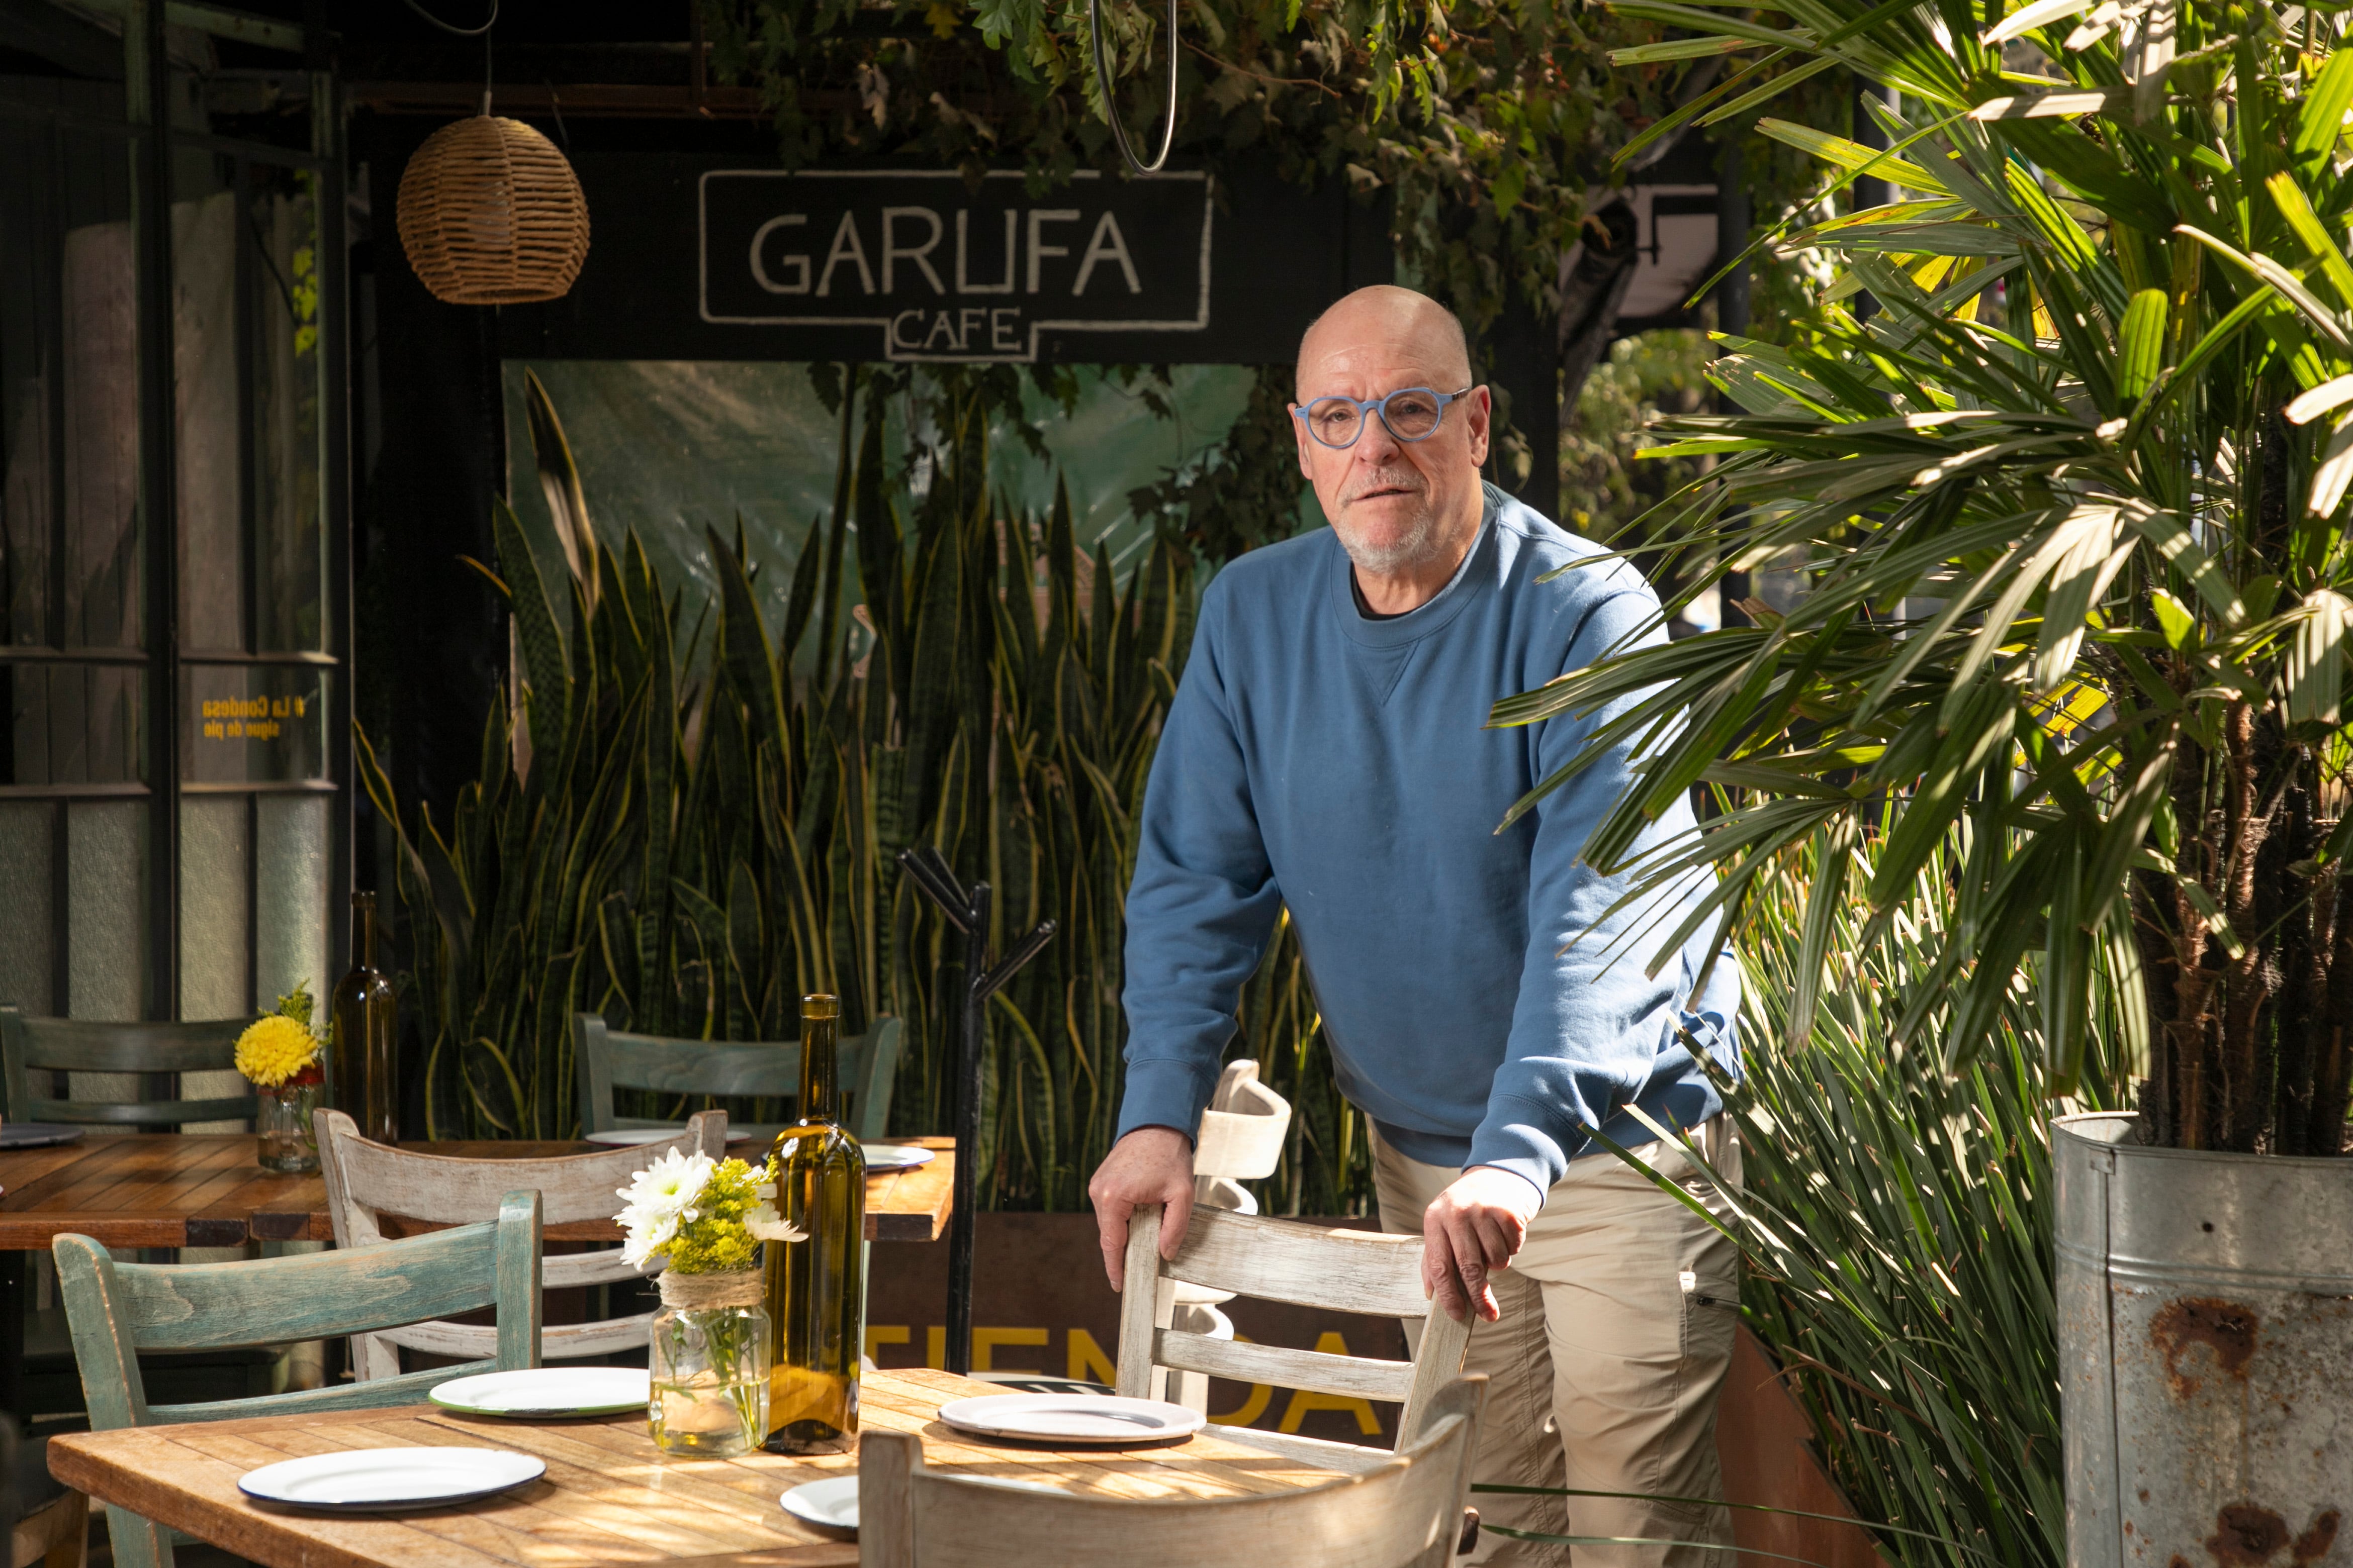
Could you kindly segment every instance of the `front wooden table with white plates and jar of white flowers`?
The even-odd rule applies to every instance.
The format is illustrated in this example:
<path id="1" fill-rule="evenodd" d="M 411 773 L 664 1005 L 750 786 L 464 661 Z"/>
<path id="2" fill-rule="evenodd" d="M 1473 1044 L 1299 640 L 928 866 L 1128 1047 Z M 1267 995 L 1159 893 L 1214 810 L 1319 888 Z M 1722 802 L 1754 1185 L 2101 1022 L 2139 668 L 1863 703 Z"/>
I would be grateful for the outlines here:
<path id="1" fill-rule="evenodd" d="M 927 1465 L 1021 1476 L 1118 1497 L 1221 1497 L 1332 1481 L 1207 1429 L 1176 1448 L 1054 1450 L 984 1443 L 939 1425 L 939 1406 L 1002 1392 L 948 1373 L 868 1373 L 866 1427 L 922 1434 Z M 501 1497 L 405 1516 L 308 1514 L 254 1505 L 238 1476 L 336 1448 L 485 1446 L 534 1453 L 548 1474 Z M 642 1415 L 572 1422 L 475 1420 L 433 1406 L 353 1415 L 264 1415 L 49 1439 L 49 1474 L 271 1568 L 847 1568 L 856 1544 L 793 1521 L 776 1497 L 856 1469 L 856 1455 L 666 1460 Z"/>

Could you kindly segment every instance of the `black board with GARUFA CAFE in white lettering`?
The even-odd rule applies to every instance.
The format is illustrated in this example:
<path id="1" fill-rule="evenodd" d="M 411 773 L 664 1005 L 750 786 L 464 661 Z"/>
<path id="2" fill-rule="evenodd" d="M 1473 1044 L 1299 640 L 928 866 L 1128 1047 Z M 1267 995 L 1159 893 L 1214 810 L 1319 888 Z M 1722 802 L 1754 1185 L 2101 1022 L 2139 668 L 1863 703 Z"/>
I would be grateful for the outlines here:
<path id="1" fill-rule="evenodd" d="M 1388 282 L 1386 205 L 1271 169 L 776 169 L 598 153 L 572 294 L 499 310 L 511 360 L 1280 364 Z"/>

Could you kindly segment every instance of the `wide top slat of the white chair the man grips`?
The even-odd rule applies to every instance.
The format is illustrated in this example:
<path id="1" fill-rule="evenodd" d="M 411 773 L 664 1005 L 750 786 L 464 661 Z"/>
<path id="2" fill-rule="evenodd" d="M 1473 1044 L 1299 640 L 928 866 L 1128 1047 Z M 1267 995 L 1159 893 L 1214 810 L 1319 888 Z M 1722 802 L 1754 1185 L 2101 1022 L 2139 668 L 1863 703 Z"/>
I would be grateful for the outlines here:
<path id="1" fill-rule="evenodd" d="M 1205 1213 L 1214 1213 L 1214 1222 L 1186 1227 L 1184 1246 L 1165 1269 L 1169 1279 L 1367 1316 L 1424 1316 L 1431 1309 L 1419 1267 L 1398 1267 L 1400 1255 L 1419 1265 L 1421 1237 L 1219 1211 L 1195 1211 L 1195 1220 Z"/>

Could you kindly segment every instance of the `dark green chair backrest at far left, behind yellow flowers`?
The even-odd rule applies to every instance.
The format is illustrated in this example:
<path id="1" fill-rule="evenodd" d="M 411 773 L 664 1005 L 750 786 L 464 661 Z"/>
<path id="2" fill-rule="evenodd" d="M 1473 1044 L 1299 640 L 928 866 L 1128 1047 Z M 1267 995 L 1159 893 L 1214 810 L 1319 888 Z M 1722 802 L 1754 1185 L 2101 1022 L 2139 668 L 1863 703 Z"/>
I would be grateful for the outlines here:
<path id="1" fill-rule="evenodd" d="M 167 1128 L 191 1121 L 252 1121 L 252 1091 L 209 1100 L 176 1098 L 176 1074 L 224 1072 L 238 1065 L 238 1034 L 252 1018 L 214 1023 L 92 1023 L 87 1018 L 26 1018 L 0 1006 L 0 1086 L 9 1121 L 85 1121 L 122 1128 Z M 33 1093 L 35 1072 L 174 1074 L 169 1095 L 132 1103 L 56 1100 Z M 47 1088 L 47 1084 L 42 1084 Z"/>

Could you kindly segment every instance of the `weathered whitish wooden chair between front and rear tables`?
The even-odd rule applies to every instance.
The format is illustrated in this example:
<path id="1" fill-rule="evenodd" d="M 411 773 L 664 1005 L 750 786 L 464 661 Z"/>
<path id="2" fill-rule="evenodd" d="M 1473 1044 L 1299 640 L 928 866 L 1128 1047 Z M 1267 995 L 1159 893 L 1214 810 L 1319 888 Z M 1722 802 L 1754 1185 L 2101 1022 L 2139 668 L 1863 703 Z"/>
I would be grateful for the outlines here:
<path id="1" fill-rule="evenodd" d="M 511 1187 L 539 1187 L 546 1225 L 609 1220 L 621 1208 L 616 1197 L 628 1178 L 666 1150 L 727 1154 L 727 1112 L 696 1114 L 678 1138 L 595 1154 L 560 1159 L 454 1159 L 416 1154 L 360 1138 L 360 1128 L 339 1110 L 322 1110 L 318 1126 L 318 1166 L 327 1180 L 327 1213 L 334 1220 L 334 1244 L 376 1246 L 386 1239 L 384 1215 L 428 1220 L 435 1225 L 471 1225 L 496 1218 L 499 1197 Z M 647 1269 L 621 1262 L 619 1248 L 598 1253 L 562 1253 L 541 1262 L 541 1288 L 605 1286 L 642 1279 Z M 546 1361 L 607 1356 L 645 1349 L 645 1326 L 652 1314 L 607 1319 L 602 1324 L 558 1324 L 541 1335 Z M 400 1375 L 400 1349 L 431 1352 L 478 1361 L 496 1354 L 499 1331 L 487 1324 L 426 1321 L 407 1328 L 351 1335 L 353 1378 L 374 1382 Z"/>

